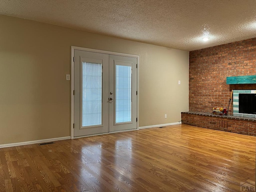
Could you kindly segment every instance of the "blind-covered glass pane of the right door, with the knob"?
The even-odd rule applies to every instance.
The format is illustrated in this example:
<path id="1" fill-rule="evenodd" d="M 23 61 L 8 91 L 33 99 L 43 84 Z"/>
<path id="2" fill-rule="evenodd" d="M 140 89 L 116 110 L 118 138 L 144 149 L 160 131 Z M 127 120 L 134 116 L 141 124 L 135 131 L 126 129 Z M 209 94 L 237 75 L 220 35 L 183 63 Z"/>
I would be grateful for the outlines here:
<path id="1" fill-rule="evenodd" d="M 132 67 L 116 65 L 116 123 L 132 121 Z"/>

